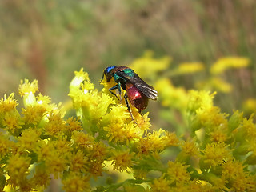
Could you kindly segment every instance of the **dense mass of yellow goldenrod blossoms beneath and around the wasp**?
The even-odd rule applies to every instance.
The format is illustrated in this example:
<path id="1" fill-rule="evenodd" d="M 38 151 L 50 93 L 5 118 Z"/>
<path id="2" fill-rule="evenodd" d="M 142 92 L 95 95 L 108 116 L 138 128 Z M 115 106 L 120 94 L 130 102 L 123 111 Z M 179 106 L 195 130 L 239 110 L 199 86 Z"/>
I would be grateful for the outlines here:
<path id="1" fill-rule="evenodd" d="M 164 68 L 169 60 L 158 62 Z M 189 70 L 202 69 L 194 66 Z M 151 130 L 149 113 L 142 116 L 131 106 L 133 121 L 124 99 L 108 90 L 114 82 L 101 83 L 97 90 L 86 72 L 75 72 L 69 95 L 76 117 L 70 118 L 61 104 L 37 93 L 37 81 L 21 82 L 21 110 L 14 94 L 4 95 L 1 191 L 42 191 L 51 178 L 70 192 L 256 191 L 253 115 L 222 113 L 213 104 L 216 93 L 187 92 L 161 78 L 155 88 L 162 106 L 181 111 L 187 123 L 182 135 Z"/>

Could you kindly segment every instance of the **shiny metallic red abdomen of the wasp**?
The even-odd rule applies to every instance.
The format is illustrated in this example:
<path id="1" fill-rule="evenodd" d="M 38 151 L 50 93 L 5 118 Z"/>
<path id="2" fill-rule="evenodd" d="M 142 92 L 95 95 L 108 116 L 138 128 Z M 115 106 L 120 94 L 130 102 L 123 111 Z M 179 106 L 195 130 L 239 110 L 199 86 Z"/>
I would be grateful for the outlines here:
<path id="1" fill-rule="evenodd" d="M 149 98 L 142 94 L 137 87 L 131 83 L 126 83 L 126 92 L 127 97 L 130 100 L 130 103 L 135 106 L 138 110 L 145 110 L 149 102 Z"/>

